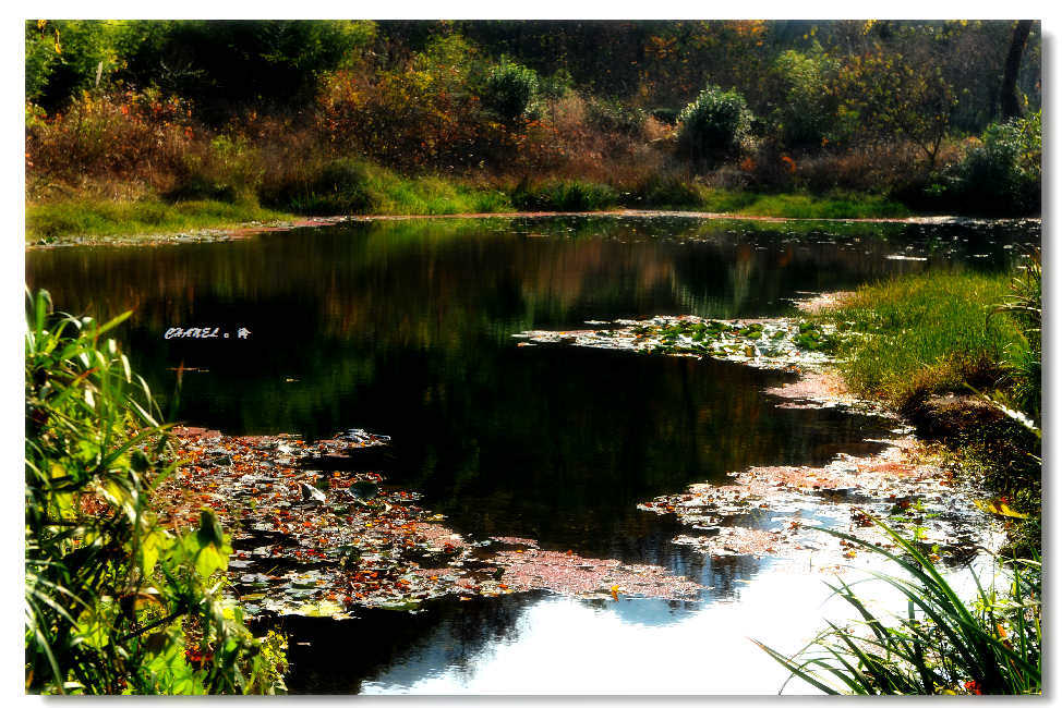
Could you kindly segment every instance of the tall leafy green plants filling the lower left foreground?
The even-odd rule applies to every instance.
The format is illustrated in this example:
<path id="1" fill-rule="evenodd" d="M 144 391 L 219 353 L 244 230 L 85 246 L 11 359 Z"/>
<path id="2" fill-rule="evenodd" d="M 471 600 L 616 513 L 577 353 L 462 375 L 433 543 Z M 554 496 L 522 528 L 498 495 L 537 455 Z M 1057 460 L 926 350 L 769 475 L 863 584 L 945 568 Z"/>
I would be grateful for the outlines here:
<path id="1" fill-rule="evenodd" d="M 221 596 L 217 517 L 179 534 L 152 510 L 178 463 L 147 384 L 102 337 L 129 315 L 99 325 L 28 297 L 26 691 L 281 691 L 282 640 L 254 638 Z"/>

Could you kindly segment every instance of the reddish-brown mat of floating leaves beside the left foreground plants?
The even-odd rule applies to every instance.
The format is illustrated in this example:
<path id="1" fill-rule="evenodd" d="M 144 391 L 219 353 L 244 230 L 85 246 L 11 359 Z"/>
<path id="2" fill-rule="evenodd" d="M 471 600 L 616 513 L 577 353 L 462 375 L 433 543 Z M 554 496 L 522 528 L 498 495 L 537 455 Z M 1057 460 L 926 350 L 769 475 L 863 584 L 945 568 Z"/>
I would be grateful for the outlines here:
<path id="1" fill-rule="evenodd" d="M 662 567 L 543 550 L 533 539 L 472 541 L 420 506 L 417 492 L 342 468 L 386 436 L 351 430 L 307 444 L 287 435 L 174 432 L 186 464 L 159 486 L 160 515 L 189 527 L 202 506 L 215 510 L 236 549 L 231 588 L 252 615 L 343 619 L 358 607 L 415 610 L 447 595 L 530 590 L 696 599 L 701 589 Z"/>

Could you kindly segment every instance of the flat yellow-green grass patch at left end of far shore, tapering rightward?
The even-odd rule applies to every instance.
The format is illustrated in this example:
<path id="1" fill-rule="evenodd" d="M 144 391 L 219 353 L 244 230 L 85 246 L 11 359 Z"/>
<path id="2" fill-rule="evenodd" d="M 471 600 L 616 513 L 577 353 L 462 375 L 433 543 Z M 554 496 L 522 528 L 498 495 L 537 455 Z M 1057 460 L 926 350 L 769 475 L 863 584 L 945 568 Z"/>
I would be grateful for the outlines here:
<path id="1" fill-rule="evenodd" d="M 70 198 L 27 205 L 26 240 L 152 235 L 286 218 L 291 216 L 253 204 Z"/>

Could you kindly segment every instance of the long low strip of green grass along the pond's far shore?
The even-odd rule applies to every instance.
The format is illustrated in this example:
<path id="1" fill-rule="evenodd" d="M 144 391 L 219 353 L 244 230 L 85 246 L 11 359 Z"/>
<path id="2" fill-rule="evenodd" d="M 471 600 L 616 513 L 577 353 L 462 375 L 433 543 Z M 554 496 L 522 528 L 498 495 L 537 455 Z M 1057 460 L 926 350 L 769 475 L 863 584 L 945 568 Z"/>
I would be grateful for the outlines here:
<path id="1" fill-rule="evenodd" d="M 539 184 L 472 184 L 437 176 L 406 178 L 381 168 L 326 174 L 283 193 L 238 202 L 159 196 L 137 200 L 70 195 L 26 204 L 26 241 L 81 236 L 135 236 L 224 229 L 248 222 L 291 221 L 299 216 L 443 216 L 515 211 L 602 211 L 621 208 L 679 209 L 792 219 L 902 218 L 910 212 L 878 195 L 763 194 L 712 190 L 698 184 L 642 185 L 623 192 L 583 181 Z"/>

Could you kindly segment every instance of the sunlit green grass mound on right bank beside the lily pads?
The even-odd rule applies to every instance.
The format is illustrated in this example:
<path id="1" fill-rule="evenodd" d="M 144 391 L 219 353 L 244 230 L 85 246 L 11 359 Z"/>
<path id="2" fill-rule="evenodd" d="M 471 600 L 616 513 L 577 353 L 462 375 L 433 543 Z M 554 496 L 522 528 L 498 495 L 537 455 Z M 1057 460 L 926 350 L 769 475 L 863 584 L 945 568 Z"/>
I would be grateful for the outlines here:
<path id="1" fill-rule="evenodd" d="M 860 288 L 824 315 L 852 322 L 857 332 L 838 343 L 846 382 L 901 410 L 927 394 L 967 390 L 967 383 L 991 387 L 1000 362 L 1024 346 L 1013 320 L 988 317 L 1007 281 L 1005 274 L 946 271 Z"/>

